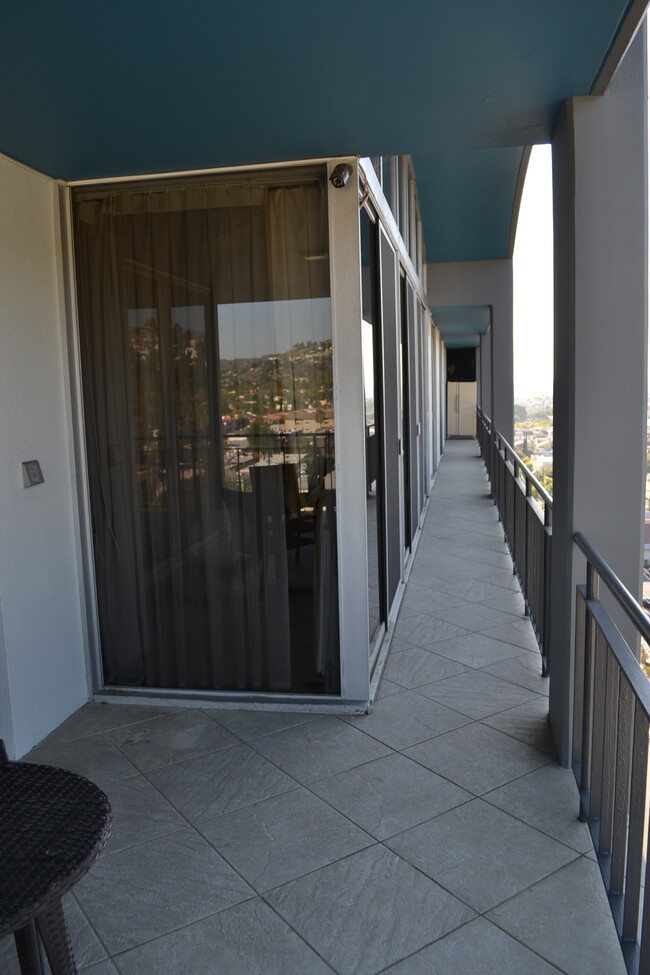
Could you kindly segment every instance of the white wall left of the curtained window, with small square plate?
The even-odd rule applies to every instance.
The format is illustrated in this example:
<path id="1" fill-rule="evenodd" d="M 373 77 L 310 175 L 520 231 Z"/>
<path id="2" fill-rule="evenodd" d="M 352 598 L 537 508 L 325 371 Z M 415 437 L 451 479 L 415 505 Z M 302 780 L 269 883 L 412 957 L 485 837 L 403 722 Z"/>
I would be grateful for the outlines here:
<path id="1" fill-rule="evenodd" d="M 57 199 L 0 156 L 0 736 L 14 757 L 88 697 Z M 34 458 L 45 483 L 25 489 Z"/>

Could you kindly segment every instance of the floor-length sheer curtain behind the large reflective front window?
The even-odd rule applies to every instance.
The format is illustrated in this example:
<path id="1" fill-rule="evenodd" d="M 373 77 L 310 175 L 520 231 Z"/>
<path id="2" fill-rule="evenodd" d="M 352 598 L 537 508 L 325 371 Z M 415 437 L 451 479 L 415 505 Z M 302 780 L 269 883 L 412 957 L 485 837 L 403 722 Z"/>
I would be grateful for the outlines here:
<path id="1" fill-rule="evenodd" d="M 339 690 L 325 201 L 313 170 L 75 192 L 109 684 Z"/>

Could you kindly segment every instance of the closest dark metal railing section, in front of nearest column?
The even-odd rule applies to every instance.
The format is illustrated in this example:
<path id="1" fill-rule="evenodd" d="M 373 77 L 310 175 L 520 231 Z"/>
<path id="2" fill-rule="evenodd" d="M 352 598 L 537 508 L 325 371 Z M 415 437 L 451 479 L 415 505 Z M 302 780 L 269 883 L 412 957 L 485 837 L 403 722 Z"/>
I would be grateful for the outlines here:
<path id="1" fill-rule="evenodd" d="M 573 768 L 630 975 L 650 971 L 647 860 L 650 684 L 599 597 L 599 583 L 650 642 L 639 603 L 581 534 L 576 587 Z"/>

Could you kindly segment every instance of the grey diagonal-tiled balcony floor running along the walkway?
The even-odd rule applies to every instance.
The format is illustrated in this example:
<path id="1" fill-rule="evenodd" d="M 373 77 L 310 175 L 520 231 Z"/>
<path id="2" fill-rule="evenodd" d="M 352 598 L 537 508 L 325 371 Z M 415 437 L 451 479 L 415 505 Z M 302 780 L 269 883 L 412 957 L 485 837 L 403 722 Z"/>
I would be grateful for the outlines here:
<path id="1" fill-rule="evenodd" d="M 477 445 L 454 441 L 370 715 L 70 718 L 29 759 L 113 804 L 66 899 L 80 969 L 625 975 L 522 612 Z"/>

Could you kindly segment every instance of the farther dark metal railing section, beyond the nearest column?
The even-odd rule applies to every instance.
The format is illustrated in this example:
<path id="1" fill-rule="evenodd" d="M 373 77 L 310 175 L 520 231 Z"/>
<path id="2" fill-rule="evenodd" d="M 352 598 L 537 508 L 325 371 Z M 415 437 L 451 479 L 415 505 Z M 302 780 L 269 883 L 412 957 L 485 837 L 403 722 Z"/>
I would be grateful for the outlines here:
<path id="1" fill-rule="evenodd" d="M 477 431 L 546 673 L 553 499 L 480 408 Z"/>

